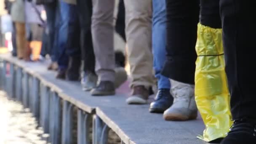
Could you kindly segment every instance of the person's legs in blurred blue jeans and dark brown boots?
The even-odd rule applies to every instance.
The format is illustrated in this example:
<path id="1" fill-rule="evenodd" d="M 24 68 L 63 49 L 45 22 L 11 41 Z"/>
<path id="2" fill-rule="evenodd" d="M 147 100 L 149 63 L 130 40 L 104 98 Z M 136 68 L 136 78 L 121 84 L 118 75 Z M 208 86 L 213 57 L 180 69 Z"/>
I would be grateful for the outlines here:
<path id="1" fill-rule="evenodd" d="M 56 78 L 77 81 L 80 78 L 80 25 L 76 0 L 60 0 L 58 31 L 58 73 Z"/>

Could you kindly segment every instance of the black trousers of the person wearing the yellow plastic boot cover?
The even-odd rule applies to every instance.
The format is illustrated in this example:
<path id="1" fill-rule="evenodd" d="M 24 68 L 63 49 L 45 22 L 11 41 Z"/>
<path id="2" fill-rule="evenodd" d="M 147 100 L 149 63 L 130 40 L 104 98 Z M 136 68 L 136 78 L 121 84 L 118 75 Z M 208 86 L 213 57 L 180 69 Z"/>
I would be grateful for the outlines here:
<path id="1" fill-rule="evenodd" d="M 182 83 L 195 83 L 197 24 L 221 28 L 219 0 L 166 0 L 167 60 L 162 74 Z M 200 12 L 200 16 L 199 16 Z"/>

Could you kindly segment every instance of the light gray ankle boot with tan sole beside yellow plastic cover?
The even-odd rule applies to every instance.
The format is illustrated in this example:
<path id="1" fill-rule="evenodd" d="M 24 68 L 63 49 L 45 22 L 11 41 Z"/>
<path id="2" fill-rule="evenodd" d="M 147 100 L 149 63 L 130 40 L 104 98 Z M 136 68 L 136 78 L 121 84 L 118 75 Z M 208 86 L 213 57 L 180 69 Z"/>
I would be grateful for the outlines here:
<path id="1" fill-rule="evenodd" d="M 183 121 L 197 118 L 195 85 L 171 80 L 171 94 L 174 101 L 163 114 L 165 120 Z"/>

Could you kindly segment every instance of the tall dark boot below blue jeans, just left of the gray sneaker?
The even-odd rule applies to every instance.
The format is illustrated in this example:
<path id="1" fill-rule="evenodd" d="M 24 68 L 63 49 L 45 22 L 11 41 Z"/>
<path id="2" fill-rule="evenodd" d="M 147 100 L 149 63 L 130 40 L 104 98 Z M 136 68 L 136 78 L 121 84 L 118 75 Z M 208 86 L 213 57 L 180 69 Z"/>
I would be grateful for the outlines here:
<path id="1" fill-rule="evenodd" d="M 67 69 L 67 80 L 78 81 L 80 78 L 80 57 L 69 57 L 69 65 Z"/>

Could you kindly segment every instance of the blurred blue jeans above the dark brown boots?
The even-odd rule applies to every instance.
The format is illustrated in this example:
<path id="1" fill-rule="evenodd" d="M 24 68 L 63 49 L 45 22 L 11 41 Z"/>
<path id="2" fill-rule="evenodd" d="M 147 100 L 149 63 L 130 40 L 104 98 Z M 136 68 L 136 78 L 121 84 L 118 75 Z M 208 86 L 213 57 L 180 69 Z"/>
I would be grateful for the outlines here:
<path id="1" fill-rule="evenodd" d="M 67 69 L 69 56 L 80 56 L 80 34 L 76 5 L 60 3 L 60 27 L 58 34 L 59 69 Z M 78 25 L 77 25 L 78 24 Z M 74 42 L 74 40 L 76 42 Z"/>

